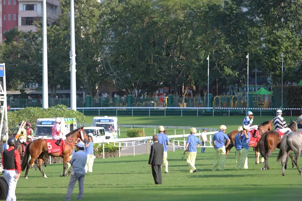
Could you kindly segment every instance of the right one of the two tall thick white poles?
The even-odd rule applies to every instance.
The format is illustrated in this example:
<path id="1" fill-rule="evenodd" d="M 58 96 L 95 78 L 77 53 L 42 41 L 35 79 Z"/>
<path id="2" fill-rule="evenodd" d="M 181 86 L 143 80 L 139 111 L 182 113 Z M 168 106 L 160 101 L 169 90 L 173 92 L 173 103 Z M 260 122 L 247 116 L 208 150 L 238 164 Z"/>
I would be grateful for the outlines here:
<path id="1" fill-rule="evenodd" d="M 70 108 L 77 111 L 77 86 L 75 85 L 74 0 L 70 0 Z"/>

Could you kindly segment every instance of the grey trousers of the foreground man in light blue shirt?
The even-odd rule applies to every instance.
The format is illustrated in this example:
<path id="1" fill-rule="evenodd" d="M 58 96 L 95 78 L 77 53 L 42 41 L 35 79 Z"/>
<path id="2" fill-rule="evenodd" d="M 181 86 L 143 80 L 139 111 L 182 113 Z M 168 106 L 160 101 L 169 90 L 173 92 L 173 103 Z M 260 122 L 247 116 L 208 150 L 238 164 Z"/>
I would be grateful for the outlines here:
<path id="1" fill-rule="evenodd" d="M 68 190 L 67 190 L 67 195 L 66 195 L 65 200 L 71 200 L 73 187 L 74 187 L 75 182 L 77 182 L 77 181 L 79 181 L 79 195 L 78 195 L 77 199 L 83 199 L 84 178 L 85 178 L 85 174 L 74 173 L 73 175 L 70 176 L 70 181 L 68 184 Z"/>

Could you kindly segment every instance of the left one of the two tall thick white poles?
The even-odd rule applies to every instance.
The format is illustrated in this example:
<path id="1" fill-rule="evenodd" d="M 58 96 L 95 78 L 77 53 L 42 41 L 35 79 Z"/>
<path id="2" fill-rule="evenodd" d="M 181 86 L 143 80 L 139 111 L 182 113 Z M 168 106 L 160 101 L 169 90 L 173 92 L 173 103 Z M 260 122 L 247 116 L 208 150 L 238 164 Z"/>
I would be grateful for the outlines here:
<path id="1" fill-rule="evenodd" d="M 46 0 L 43 0 L 42 17 L 42 38 L 43 38 L 43 67 L 42 67 L 42 108 L 48 108 L 48 73 L 47 73 L 47 20 L 46 20 Z"/>

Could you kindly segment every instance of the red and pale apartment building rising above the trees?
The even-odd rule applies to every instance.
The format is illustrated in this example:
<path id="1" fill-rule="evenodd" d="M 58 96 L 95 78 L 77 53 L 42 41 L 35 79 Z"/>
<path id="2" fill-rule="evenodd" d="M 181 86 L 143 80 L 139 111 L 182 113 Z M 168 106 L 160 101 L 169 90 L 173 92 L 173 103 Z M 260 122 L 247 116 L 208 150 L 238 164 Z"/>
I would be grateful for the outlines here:
<path id="1" fill-rule="evenodd" d="M 61 14 L 59 0 L 46 0 L 47 24 Z M 0 0 L 0 43 L 3 33 L 18 27 L 19 31 L 36 32 L 34 22 L 42 21 L 42 0 Z"/>

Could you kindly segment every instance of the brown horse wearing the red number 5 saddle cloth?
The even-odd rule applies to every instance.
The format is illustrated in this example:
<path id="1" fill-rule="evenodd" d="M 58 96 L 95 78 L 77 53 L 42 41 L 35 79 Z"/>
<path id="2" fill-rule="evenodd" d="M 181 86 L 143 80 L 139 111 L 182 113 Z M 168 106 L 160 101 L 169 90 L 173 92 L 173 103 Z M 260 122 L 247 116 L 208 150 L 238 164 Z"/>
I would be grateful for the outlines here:
<path id="1" fill-rule="evenodd" d="M 66 135 L 66 140 L 64 140 L 65 148 L 61 155 L 59 153 L 48 153 L 47 141 L 45 139 L 39 138 L 39 139 L 31 142 L 26 148 L 26 153 L 25 153 L 24 159 L 22 160 L 22 164 L 21 164 L 22 171 L 24 171 L 26 168 L 24 177 L 27 178 L 30 166 L 32 164 L 34 164 L 35 160 L 38 158 L 39 162 L 38 162 L 37 166 L 38 166 L 41 174 L 47 178 L 46 174 L 43 172 L 42 167 L 41 167 L 45 154 L 49 155 L 49 156 L 56 156 L 56 157 L 63 158 L 62 176 L 65 176 L 67 162 L 70 161 L 69 156 L 72 154 L 72 150 L 74 149 L 74 144 L 75 144 L 75 142 L 77 142 L 78 138 L 84 140 L 85 142 L 88 141 L 88 137 L 87 137 L 83 127 L 75 129 L 74 131 L 71 131 L 70 133 L 68 133 Z M 28 162 L 29 156 L 31 156 L 31 159 Z M 71 171 L 71 168 L 70 168 L 69 172 L 67 173 L 67 176 L 69 175 L 70 171 Z"/>

